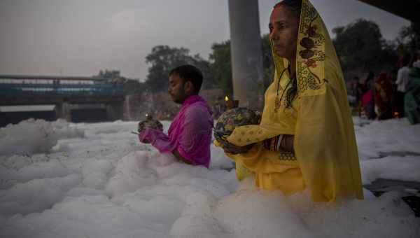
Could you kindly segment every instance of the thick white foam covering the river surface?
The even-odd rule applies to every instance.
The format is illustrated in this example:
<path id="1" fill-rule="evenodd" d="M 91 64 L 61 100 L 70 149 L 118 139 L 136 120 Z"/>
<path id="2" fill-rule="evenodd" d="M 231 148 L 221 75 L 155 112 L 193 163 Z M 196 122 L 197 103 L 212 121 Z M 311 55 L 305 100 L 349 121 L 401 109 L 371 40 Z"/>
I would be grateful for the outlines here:
<path id="1" fill-rule="evenodd" d="M 419 156 L 370 159 L 380 153 L 418 152 L 418 125 L 404 119 L 355 124 L 364 183 L 378 178 L 420 181 Z M 169 122 L 163 125 L 167 130 Z M 365 190 L 363 201 L 325 204 L 311 202 L 306 192 L 285 197 L 255 190 L 251 179 L 238 183 L 232 161 L 220 148 L 211 146 L 210 169 L 194 167 L 139 144 L 130 134 L 136 127 L 137 122 L 29 120 L 1 130 L 1 142 L 10 139 L 5 144 L 13 149 L 0 147 L 0 237 L 420 234 L 418 218 L 396 193 L 374 197 Z M 41 132 L 53 135 L 56 146 L 51 148 L 55 140 L 42 141 Z M 16 146 L 27 148 L 28 155 L 17 155 Z"/>

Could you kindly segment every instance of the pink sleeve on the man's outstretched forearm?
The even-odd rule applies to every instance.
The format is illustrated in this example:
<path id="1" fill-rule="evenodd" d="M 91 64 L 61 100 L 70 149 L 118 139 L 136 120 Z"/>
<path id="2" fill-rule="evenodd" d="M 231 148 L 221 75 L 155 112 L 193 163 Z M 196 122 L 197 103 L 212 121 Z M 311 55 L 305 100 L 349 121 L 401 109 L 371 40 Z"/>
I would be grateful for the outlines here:
<path id="1" fill-rule="evenodd" d="M 140 141 L 144 141 L 145 139 L 148 140 L 152 146 L 155 146 L 160 153 L 172 153 L 177 146 L 176 140 L 171 141 L 166 134 L 152 128 L 146 128 L 139 134 Z"/>

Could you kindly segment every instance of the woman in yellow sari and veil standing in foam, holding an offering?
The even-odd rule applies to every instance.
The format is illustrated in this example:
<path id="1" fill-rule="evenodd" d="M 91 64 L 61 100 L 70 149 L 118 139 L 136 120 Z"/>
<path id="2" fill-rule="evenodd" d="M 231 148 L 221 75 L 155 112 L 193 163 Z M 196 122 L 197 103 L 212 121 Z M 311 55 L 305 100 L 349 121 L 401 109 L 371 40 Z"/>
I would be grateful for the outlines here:
<path id="1" fill-rule="evenodd" d="M 345 84 L 323 20 L 308 0 L 277 3 L 269 20 L 276 71 L 260 125 L 236 127 L 224 145 L 237 176 L 314 201 L 363 199 Z M 252 146 L 250 146 L 252 145 Z"/>

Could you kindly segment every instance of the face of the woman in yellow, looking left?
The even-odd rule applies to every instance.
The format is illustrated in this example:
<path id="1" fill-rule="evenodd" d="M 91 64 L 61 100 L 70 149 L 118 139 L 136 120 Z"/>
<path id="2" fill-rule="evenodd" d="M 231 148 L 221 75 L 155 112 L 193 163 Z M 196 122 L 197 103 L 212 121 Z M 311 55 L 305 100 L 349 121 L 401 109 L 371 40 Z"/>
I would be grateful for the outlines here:
<path id="1" fill-rule="evenodd" d="M 274 52 L 280 57 L 291 59 L 296 55 L 299 20 L 284 6 L 273 9 L 269 17 L 269 38 Z"/>

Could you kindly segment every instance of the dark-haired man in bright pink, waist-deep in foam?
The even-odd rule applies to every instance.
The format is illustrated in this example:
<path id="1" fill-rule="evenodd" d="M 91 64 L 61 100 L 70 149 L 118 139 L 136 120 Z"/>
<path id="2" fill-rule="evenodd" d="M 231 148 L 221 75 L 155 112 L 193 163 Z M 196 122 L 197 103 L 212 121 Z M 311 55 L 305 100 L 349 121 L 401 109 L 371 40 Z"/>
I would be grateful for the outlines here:
<path id="1" fill-rule="evenodd" d="M 168 92 L 181 104 L 168 130 L 168 135 L 146 127 L 139 140 L 149 141 L 160 153 L 172 153 L 191 165 L 209 167 L 213 117 L 206 101 L 198 95 L 203 76 L 192 65 L 179 66 L 169 73 Z"/>

